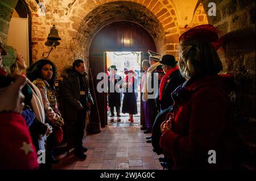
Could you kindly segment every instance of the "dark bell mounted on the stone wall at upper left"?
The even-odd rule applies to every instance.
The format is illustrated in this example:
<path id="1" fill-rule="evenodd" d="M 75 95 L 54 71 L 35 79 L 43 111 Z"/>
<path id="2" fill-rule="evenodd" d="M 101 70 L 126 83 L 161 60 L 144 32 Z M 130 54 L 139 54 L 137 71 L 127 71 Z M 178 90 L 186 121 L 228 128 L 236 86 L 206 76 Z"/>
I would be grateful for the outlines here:
<path id="1" fill-rule="evenodd" d="M 51 49 L 49 50 L 49 52 L 43 53 L 43 58 L 48 58 L 53 47 L 56 48 L 58 45 L 60 45 L 58 40 L 61 40 L 61 38 L 59 37 L 59 33 L 58 33 L 57 29 L 55 28 L 55 24 L 53 24 L 51 31 L 48 34 L 47 41 L 46 41 L 46 43 L 44 43 L 47 47 L 51 47 Z"/>

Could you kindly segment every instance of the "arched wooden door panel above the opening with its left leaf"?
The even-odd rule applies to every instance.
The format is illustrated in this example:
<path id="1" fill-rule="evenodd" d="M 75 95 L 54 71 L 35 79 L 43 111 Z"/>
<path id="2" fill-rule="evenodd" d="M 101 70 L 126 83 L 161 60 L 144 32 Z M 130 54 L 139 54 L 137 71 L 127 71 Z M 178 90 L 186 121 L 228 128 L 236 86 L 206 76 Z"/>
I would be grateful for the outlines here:
<path id="1" fill-rule="evenodd" d="M 150 33 L 135 23 L 114 22 L 102 28 L 94 36 L 89 49 L 89 64 L 97 105 L 94 104 L 92 108 L 91 118 L 100 115 L 102 128 L 108 124 L 106 93 L 98 93 L 96 87 L 101 81 L 97 80 L 97 74 L 107 69 L 104 52 L 142 52 L 142 60 L 145 60 L 148 59 L 147 50 L 156 51 L 154 40 Z M 92 86 L 92 83 L 90 85 Z"/>

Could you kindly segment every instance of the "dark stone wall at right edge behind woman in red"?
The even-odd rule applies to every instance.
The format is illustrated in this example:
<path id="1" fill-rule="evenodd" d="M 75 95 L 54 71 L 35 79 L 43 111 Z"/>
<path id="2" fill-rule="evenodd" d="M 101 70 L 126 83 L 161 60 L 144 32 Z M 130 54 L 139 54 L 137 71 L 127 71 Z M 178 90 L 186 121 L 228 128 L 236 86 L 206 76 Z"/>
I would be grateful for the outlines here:
<path id="1" fill-rule="evenodd" d="M 208 21 L 222 32 L 223 45 L 218 54 L 224 73 L 234 75 L 237 87 L 230 95 L 234 103 L 241 162 L 246 169 L 255 169 L 255 1 L 201 1 L 217 5 L 217 15 Z"/>

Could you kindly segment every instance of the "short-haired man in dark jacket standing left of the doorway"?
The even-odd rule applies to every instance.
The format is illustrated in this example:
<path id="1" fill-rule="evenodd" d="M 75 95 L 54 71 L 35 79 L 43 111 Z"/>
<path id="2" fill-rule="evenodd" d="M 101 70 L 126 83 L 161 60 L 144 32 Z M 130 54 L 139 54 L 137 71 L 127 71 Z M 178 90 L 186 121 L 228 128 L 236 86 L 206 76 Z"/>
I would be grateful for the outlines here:
<path id="1" fill-rule="evenodd" d="M 84 137 L 86 111 L 89 111 L 93 99 L 86 80 L 84 61 L 75 60 L 73 67 L 65 69 L 62 76 L 65 119 L 69 125 L 73 125 L 75 155 L 77 158 L 85 159 L 84 152 L 87 149 L 82 146 L 82 138 Z"/>

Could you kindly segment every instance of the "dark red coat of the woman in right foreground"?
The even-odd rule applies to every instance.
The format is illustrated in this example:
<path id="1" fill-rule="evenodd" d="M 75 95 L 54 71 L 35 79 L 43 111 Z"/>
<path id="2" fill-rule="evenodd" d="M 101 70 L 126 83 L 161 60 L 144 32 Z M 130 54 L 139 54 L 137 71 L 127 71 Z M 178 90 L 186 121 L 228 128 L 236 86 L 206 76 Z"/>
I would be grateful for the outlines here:
<path id="1" fill-rule="evenodd" d="M 175 101 L 172 131 L 160 139 L 172 169 L 231 169 L 236 152 L 236 126 L 228 98 L 231 75 L 212 75 L 187 85 L 185 100 Z M 216 151 L 216 163 L 208 158 Z"/>

